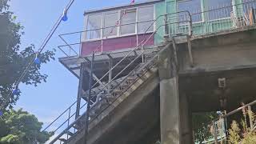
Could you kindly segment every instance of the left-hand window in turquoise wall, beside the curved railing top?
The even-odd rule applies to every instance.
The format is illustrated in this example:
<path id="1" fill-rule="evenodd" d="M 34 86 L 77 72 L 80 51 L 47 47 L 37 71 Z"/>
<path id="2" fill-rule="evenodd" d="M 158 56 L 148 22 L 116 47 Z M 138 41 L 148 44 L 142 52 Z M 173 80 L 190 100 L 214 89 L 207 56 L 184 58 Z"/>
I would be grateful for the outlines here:
<path id="1" fill-rule="evenodd" d="M 187 0 L 178 2 L 178 11 L 188 10 L 192 14 L 192 22 L 202 21 L 201 0 Z"/>

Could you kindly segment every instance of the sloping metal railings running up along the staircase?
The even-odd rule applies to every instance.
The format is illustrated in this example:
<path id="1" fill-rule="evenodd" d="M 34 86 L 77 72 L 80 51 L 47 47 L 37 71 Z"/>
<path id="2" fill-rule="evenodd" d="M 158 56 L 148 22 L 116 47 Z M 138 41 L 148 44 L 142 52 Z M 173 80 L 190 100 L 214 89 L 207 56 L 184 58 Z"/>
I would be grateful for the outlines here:
<path id="1" fill-rule="evenodd" d="M 184 12 L 179 12 L 178 14 L 180 14 L 180 13 L 186 13 L 186 14 L 187 14 L 187 19 L 186 19 L 186 20 L 184 19 L 184 21 L 178 21 L 177 14 L 175 14 L 175 15 L 176 15 L 176 18 L 173 17 L 173 20 L 174 20 L 174 21 L 173 21 L 173 22 L 166 23 L 166 24 L 168 24 L 168 25 L 174 25 L 174 24 L 175 24 L 175 25 L 180 25 L 181 23 L 184 23 L 184 22 L 188 22 L 188 23 L 191 22 L 191 21 L 190 21 L 190 14 L 189 14 L 188 12 L 185 12 L 185 11 L 184 11 Z M 159 16 L 159 18 L 157 18 L 156 20 L 154 20 L 154 22 L 151 24 L 151 26 L 154 26 L 154 23 L 155 23 L 155 22 L 158 22 L 158 20 L 159 20 L 160 18 L 165 18 L 166 16 L 168 16 L 168 14 L 164 14 L 164 15 Z M 185 18 L 185 17 L 184 17 L 184 18 Z M 101 86 L 100 90 L 98 90 L 98 94 L 100 94 L 102 91 L 105 91 L 105 89 L 106 89 L 107 87 L 111 86 L 111 85 L 113 84 L 113 82 L 114 82 L 117 78 L 122 77 L 122 75 L 125 75 L 125 78 L 122 79 L 121 82 L 118 82 L 118 85 L 120 85 L 122 82 L 125 82 L 125 81 L 126 81 L 126 78 L 128 78 L 129 76 L 134 76 L 134 75 L 138 74 L 138 70 L 140 70 L 140 71 L 142 70 L 141 67 L 142 67 L 142 68 L 145 68 L 146 66 L 148 66 L 148 67 L 150 68 L 150 67 L 154 66 L 154 65 L 150 65 L 150 63 L 151 63 L 151 64 L 154 63 L 153 60 L 152 60 L 152 58 L 153 58 L 153 59 L 156 59 L 156 58 L 157 58 L 156 54 L 151 54 L 151 53 L 147 54 L 149 51 L 148 51 L 147 49 L 144 49 L 143 46 L 146 44 L 146 42 L 148 42 L 148 41 L 150 40 L 150 38 L 154 37 L 154 35 L 158 32 L 158 30 L 162 30 L 162 28 L 164 28 L 164 27 L 166 26 L 166 24 L 162 24 L 162 25 L 158 26 L 157 29 L 154 30 L 154 32 L 153 32 L 152 34 L 150 34 L 149 37 L 144 37 L 144 39 L 142 40 L 142 42 L 139 43 L 138 46 L 137 46 L 136 48 L 134 48 L 134 50 L 130 50 L 130 51 L 124 53 L 122 59 L 121 59 L 118 63 L 116 63 L 106 74 L 104 74 L 104 75 L 102 76 L 102 78 L 100 78 L 97 82 L 94 83 L 94 88 L 96 88 L 96 87 L 97 87 L 97 84 L 98 84 L 99 82 L 101 82 L 103 78 L 105 78 L 106 76 L 108 76 L 108 74 L 110 73 L 110 71 L 112 71 L 112 70 L 115 70 L 115 71 L 116 71 L 116 74 L 115 74 L 114 78 L 112 78 L 108 83 L 106 83 L 106 85 Z M 189 25 L 189 26 L 190 26 L 190 25 Z M 147 34 L 148 30 L 150 30 L 150 27 L 144 32 L 144 35 Z M 190 30 L 190 29 L 188 29 L 188 30 Z M 187 32 L 187 34 L 190 34 L 190 32 L 189 32 L 188 30 L 186 30 L 186 31 L 183 30 L 183 32 Z M 178 32 L 178 31 L 177 31 L 177 32 Z M 180 32 L 179 32 L 179 34 L 180 34 Z M 187 35 L 187 34 L 186 34 L 186 35 Z M 150 49 L 149 49 L 149 50 L 150 50 Z M 134 51 L 137 51 L 137 55 L 136 55 L 136 56 L 134 56 Z M 149 60 L 150 58 L 151 58 L 151 60 Z M 143 63 L 144 63 L 144 65 L 143 65 Z M 120 65 L 124 65 L 124 67 L 122 68 L 122 70 L 118 70 L 118 66 L 120 66 Z M 139 68 L 140 68 L 140 69 L 139 69 Z M 128 73 L 127 73 L 127 71 L 128 71 Z M 142 72 L 142 74 L 145 74 L 145 71 L 141 71 L 141 72 Z M 138 80 L 138 78 L 136 79 L 136 81 L 137 81 L 137 80 Z M 135 82 L 136 82 L 136 81 L 135 81 Z M 114 90 L 118 88 L 118 85 L 116 85 L 115 87 L 113 87 L 113 89 L 110 90 L 110 93 L 114 93 Z M 128 88 L 129 88 L 129 86 L 128 86 Z M 96 98 L 98 94 L 95 94 L 92 99 Z M 120 96 L 120 95 L 122 95 L 122 94 L 118 94 L 118 96 Z M 116 96 L 115 98 L 117 99 L 118 96 Z M 76 103 L 76 102 L 74 102 L 74 103 Z M 85 107 L 86 105 L 87 105 L 87 102 L 86 102 L 84 105 L 82 105 L 80 109 L 82 109 L 82 108 Z M 93 110 L 95 104 L 92 103 L 91 105 L 92 105 L 92 108 L 91 108 L 91 109 Z M 73 105 L 73 106 L 74 106 L 74 105 Z M 109 105 L 109 106 L 110 106 L 110 105 Z M 106 109 L 107 109 L 107 107 L 106 107 Z M 106 110 L 106 109 L 104 109 L 104 110 Z M 102 110 L 102 111 L 104 111 L 104 110 Z M 66 110 L 66 111 L 67 111 L 67 110 Z M 102 112 L 101 112 L 101 113 L 102 113 Z M 101 114 L 101 113 L 100 113 L 100 114 Z M 67 131 L 67 130 L 70 131 L 70 129 L 73 128 L 73 129 L 74 129 L 74 132 L 77 132 L 77 130 L 75 130 L 75 128 L 74 128 L 74 127 L 75 127 L 74 125 L 76 124 L 76 122 L 78 122 L 79 120 L 81 120 L 82 118 L 84 118 L 85 114 L 86 114 L 86 111 L 84 111 L 84 113 L 83 113 L 81 116 L 79 116 L 77 119 L 75 119 L 75 120 L 72 121 L 72 122 L 70 122 L 70 120 L 66 120 L 65 122 L 69 122 L 70 125 L 68 125 L 67 127 L 65 126 L 66 128 L 64 128 L 64 129 L 63 129 L 64 124 L 62 124 L 61 126 L 58 126 L 58 130 L 61 129 L 61 127 L 62 127 L 62 133 L 61 133 L 61 134 L 58 134 L 58 136 L 57 136 L 56 138 L 54 138 L 54 140 L 53 140 L 52 142 L 50 142 L 50 143 L 54 143 L 54 142 L 58 141 L 59 138 L 66 138 L 66 137 L 68 138 L 68 134 L 66 134 L 66 131 Z M 74 114 L 70 114 L 70 115 L 71 115 L 71 116 L 74 116 Z M 98 115 L 99 115 L 99 114 L 98 114 Z M 96 118 L 97 118 L 97 117 L 98 117 L 98 116 L 96 116 Z M 93 120 L 94 120 L 94 118 L 90 118 L 90 122 L 93 121 Z M 53 126 L 53 125 L 51 125 L 51 126 Z M 50 130 L 50 126 L 47 126 L 47 129 Z M 72 130 L 71 130 L 71 131 L 72 131 Z"/>

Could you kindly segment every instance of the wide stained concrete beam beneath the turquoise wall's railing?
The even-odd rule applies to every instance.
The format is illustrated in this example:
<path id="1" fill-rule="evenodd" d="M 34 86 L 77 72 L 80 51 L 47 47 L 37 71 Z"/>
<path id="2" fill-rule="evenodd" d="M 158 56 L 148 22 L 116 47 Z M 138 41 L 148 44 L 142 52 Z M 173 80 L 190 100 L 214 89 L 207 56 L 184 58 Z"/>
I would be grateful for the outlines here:
<path id="1" fill-rule="evenodd" d="M 179 74 L 256 66 L 255 43 L 256 30 L 194 39 L 192 41 L 194 67 L 190 67 L 186 46 L 181 45 L 178 50 Z"/>

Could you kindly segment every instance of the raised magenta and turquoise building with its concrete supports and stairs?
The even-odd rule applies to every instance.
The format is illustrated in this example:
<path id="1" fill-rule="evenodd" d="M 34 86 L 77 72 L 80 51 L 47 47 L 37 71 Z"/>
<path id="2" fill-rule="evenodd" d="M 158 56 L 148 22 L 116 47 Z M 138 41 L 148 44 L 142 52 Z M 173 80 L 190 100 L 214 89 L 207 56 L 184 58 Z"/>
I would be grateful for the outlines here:
<path id="1" fill-rule="evenodd" d="M 84 30 L 60 34 L 66 56 L 59 61 L 79 78 L 78 99 L 50 143 L 199 142 L 192 112 L 232 110 L 256 94 L 248 86 L 239 89 L 250 91 L 248 97 L 237 95 L 238 86 L 254 79 L 243 70 L 256 64 L 255 6 L 253 0 L 151 0 L 86 11 Z M 226 74 L 242 79 L 226 84 Z"/>

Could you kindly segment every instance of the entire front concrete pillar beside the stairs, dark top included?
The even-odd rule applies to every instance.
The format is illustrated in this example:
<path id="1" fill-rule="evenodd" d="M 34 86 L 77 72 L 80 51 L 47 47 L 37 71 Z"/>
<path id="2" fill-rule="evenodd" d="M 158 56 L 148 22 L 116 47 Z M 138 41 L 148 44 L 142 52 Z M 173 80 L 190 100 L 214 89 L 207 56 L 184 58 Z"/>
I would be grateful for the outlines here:
<path id="1" fill-rule="evenodd" d="M 162 144 L 181 143 L 178 75 L 171 48 L 159 55 L 160 129 Z"/>

